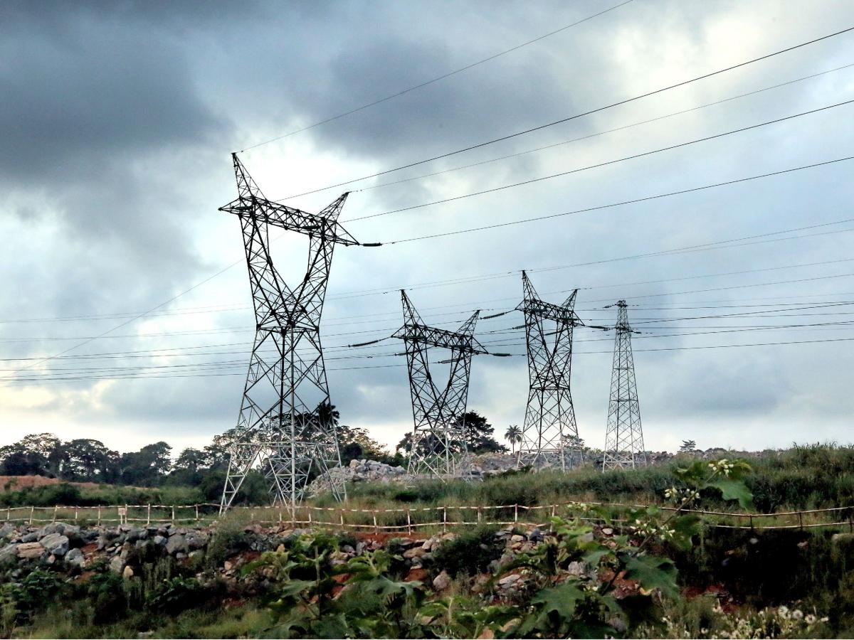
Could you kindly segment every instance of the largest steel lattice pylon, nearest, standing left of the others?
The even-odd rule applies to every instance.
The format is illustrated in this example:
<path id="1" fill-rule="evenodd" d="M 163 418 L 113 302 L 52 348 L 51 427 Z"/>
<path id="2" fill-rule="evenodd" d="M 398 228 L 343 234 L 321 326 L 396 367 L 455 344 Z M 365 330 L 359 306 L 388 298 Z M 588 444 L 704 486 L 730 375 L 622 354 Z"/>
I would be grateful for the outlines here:
<path id="1" fill-rule="evenodd" d="M 267 200 L 231 154 L 237 200 L 219 211 L 234 213 L 243 230 L 255 311 L 249 375 L 230 447 L 220 511 L 240 490 L 249 469 L 260 465 L 273 503 L 299 502 L 308 480 L 341 464 L 329 385 L 320 346 L 320 313 L 336 244 L 357 245 L 338 224 L 345 193 L 319 214 Z M 272 264 L 269 227 L 308 236 L 308 269 L 289 288 Z M 344 486 L 333 493 L 345 497 Z"/>

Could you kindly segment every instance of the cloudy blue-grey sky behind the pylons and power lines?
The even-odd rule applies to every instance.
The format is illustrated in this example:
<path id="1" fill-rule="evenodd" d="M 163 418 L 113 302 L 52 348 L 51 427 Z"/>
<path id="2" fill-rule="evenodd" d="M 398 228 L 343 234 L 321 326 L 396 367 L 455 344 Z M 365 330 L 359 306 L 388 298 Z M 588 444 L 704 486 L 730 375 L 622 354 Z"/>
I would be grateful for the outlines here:
<path id="1" fill-rule="evenodd" d="M 180 449 L 234 426 L 254 318 L 237 219 L 217 211 L 237 194 L 232 151 L 247 149 L 240 157 L 249 172 L 278 199 L 854 26 L 854 4 L 844 2 L 634 0 L 254 147 L 618 3 L 3 3 L 0 444 L 50 431 L 119 451 L 160 439 Z M 851 442 L 854 222 L 814 225 L 854 218 L 854 161 L 388 242 L 838 160 L 852 155 L 852 106 L 347 223 L 845 102 L 854 99 L 854 67 L 839 67 L 851 64 L 854 32 L 287 201 L 314 212 L 353 189 L 345 227 L 360 241 L 386 243 L 338 247 L 332 265 L 323 332 L 342 422 L 385 443 L 412 428 L 404 360 L 390 355 L 401 345 L 344 348 L 400 326 L 400 288 L 412 289 L 426 321 L 452 328 L 476 308 L 487 315 L 517 305 L 520 270 L 528 269 L 544 300 L 563 301 L 579 288 L 576 311 L 588 323 L 613 323 L 616 310 L 603 309 L 611 302 L 631 305 L 641 332 L 635 367 L 647 448 L 674 450 L 681 439 L 747 449 Z M 769 88 L 782 83 L 789 84 Z M 728 98 L 735 99 L 670 116 Z M 637 124 L 649 119 L 657 120 Z M 371 189 L 436 172 L 443 173 Z M 814 228 L 612 260 L 805 227 Z M 306 238 L 284 236 L 275 251 L 290 282 L 301 278 Z M 509 330 L 520 323 L 513 312 L 478 325 L 485 346 L 517 354 L 479 357 L 472 366 L 469 407 L 500 433 L 524 422 L 524 334 Z M 799 344 L 767 344 L 792 342 Z M 766 344 L 738 346 L 757 343 Z M 592 446 L 605 440 L 612 346 L 612 332 L 576 331 L 572 394 L 579 433 Z M 352 357 L 368 353 L 377 357 Z"/>

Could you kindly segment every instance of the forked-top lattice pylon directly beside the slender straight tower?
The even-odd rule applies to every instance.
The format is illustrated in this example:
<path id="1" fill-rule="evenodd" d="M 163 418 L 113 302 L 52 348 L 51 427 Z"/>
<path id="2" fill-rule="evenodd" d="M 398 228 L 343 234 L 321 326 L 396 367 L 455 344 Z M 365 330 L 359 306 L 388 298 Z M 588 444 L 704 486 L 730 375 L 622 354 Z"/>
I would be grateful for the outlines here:
<path id="1" fill-rule="evenodd" d="M 524 271 L 522 288 L 516 308 L 525 316 L 530 387 L 518 464 L 565 471 L 583 459 L 570 394 L 572 332 L 583 326 L 574 311 L 578 290 L 563 305 L 543 302 Z"/>

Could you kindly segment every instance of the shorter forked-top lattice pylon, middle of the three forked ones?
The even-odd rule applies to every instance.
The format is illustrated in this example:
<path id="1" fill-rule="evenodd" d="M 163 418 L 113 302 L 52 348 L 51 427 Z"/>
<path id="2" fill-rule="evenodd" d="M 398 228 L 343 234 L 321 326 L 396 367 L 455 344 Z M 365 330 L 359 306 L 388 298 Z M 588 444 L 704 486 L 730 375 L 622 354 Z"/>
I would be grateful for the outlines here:
<path id="1" fill-rule="evenodd" d="M 471 463 L 465 446 L 465 403 L 469 395 L 471 356 L 486 353 L 474 338 L 480 311 L 456 331 L 428 327 L 415 311 L 407 293 L 401 290 L 403 327 L 392 337 L 407 347 L 409 390 L 412 394 L 412 447 L 407 472 L 439 478 L 466 477 Z M 451 357 L 437 364 L 449 364 L 447 384 L 436 387 L 430 375 L 430 347 L 448 349 Z"/>

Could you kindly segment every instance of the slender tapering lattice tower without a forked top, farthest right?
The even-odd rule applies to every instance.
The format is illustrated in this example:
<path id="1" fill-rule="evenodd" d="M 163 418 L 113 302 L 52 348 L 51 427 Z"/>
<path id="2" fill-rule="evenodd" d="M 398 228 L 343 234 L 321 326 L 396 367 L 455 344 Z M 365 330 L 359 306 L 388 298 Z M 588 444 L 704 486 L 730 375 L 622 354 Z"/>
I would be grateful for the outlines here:
<path id="1" fill-rule="evenodd" d="M 643 430 L 640 428 L 640 404 L 635 386 L 635 358 L 632 356 L 632 334 L 638 332 L 629 326 L 629 310 L 625 300 L 617 302 L 617 324 L 614 329 L 617 335 L 614 338 L 614 369 L 611 371 L 611 402 L 608 405 L 603 471 L 646 464 Z"/>

